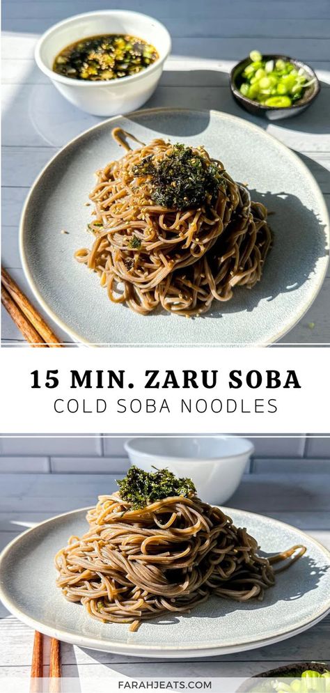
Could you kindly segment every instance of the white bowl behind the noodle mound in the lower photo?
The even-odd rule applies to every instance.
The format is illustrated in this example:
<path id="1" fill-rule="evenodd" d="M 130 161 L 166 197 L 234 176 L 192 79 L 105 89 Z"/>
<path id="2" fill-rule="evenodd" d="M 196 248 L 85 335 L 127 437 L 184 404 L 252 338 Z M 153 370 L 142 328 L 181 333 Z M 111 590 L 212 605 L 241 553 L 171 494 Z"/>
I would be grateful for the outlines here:
<path id="1" fill-rule="evenodd" d="M 166 467 L 176 476 L 194 481 L 198 496 L 222 504 L 241 481 L 254 446 L 246 438 L 132 438 L 125 443 L 131 465 L 145 472 Z"/>

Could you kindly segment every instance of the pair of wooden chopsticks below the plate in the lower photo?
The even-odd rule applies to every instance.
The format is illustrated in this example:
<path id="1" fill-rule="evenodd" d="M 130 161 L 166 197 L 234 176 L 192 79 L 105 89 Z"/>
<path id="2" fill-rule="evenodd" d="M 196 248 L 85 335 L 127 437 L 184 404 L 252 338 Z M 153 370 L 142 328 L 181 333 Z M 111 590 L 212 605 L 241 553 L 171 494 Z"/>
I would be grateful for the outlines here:
<path id="1" fill-rule="evenodd" d="M 38 693 L 38 690 L 40 690 L 40 679 L 44 678 L 43 649 L 44 636 L 36 630 L 33 641 L 30 693 Z M 59 693 L 61 691 L 61 676 L 61 642 L 56 638 L 52 638 L 50 641 L 49 658 L 49 693 Z"/>

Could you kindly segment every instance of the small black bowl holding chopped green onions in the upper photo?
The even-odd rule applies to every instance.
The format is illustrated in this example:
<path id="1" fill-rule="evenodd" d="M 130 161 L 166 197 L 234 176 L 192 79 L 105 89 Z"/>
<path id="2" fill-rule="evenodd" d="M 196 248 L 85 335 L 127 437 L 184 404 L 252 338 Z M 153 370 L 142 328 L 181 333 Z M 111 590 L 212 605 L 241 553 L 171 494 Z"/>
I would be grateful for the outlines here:
<path id="1" fill-rule="evenodd" d="M 306 63 L 301 63 L 299 60 L 294 60 L 293 58 L 289 58 L 286 55 L 263 55 L 262 59 L 265 60 L 278 60 L 282 59 L 286 62 L 292 63 L 295 68 L 303 68 L 304 72 L 306 72 L 306 75 L 309 79 L 313 79 L 315 77 L 315 81 L 311 86 L 308 86 L 306 90 L 304 91 L 304 95 L 299 99 L 299 101 L 294 102 L 292 106 L 286 106 L 286 107 L 276 107 L 276 106 L 264 106 L 263 104 L 259 104 L 257 101 L 252 101 L 251 99 L 248 99 L 246 96 L 243 96 L 243 94 L 240 93 L 239 91 L 239 86 L 241 85 L 241 75 L 243 70 L 246 68 L 246 65 L 249 65 L 251 63 L 251 58 L 244 58 L 244 60 L 241 60 L 240 63 L 237 63 L 233 67 L 233 70 L 230 72 L 230 89 L 233 94 L 233 97 L 239 103 L 242 108 L 246 109 L 246 111 L 249 111 L 250 113 L 253 114 L 253 116 L 263 116 L 264 118 L 268 118 L 268 120 L 280 120 L 281 118 L 292 118 L 292 116 L 297 116 L 299 113 L 302 113 L 308 106 L 311 105 L 311 103 L 316 99 L 317 94 L 320 91 L 320 82 L 318 81 L 314 70 L 309 67 L 309 65 L 306 65 Z"/>

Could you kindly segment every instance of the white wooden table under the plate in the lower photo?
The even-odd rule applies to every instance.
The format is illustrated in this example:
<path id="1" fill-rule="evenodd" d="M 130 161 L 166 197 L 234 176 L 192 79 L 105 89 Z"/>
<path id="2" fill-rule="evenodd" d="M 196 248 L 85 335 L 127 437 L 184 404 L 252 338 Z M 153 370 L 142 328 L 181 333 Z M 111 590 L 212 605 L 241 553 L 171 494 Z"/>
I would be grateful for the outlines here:
<path id="1" fill-rule="evenodd" d="M 110 475 L 1 474 L 0 477 L 1 548 L 26 527 L 52 515 L 92 505 L 98 494 L 115 488 L 114 477 Z M 294 524 L 330 548 L 329 483 L 330 474 L 250 474 L 243 477 L 230 505 Z M 22 677 L 23 682 L 29 678 L 33 632 L 8 615 L 3 607 L 0 616 L 0 678 L 7 677 L 3 686 L 7 691 L 13 678 Z M 330 616 L 311 630 L 272 646 L 236 655 L 175 662 L 141 660 L 63 644 L 63 676 L 75 678 L 81 690 L 91 676 L 95 685 L 97 679 L 108 679 L 107 690 L 111 690 L 111 678 L 118 675 L 245 678 L 285 662 L 327 662 L 329 636 Z M 14 689 L 14 693 L 21 690 Z"/>

